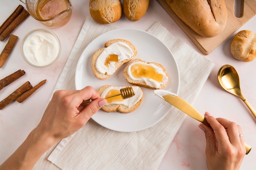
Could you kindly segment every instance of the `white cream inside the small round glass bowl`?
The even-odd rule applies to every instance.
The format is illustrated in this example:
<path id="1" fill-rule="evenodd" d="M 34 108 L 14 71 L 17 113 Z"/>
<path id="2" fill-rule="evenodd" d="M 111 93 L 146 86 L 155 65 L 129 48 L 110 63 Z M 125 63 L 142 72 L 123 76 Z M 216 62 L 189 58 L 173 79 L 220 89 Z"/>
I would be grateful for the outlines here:
<path id="1" fill-rule="evenodd" d="M 29 63 L 36 66 L 45 66 L 58 57 L 60 44 L 51 33 L 45 31 L 34 32 L 25 39 L 23 52 Z"/>

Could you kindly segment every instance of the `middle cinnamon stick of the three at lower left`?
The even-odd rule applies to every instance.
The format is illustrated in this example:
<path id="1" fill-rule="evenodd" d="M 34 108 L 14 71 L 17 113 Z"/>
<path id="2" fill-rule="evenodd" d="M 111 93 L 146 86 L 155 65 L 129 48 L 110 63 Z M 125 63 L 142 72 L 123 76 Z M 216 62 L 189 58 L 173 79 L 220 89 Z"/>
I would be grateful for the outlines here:
<path id="1" fill-rule="evenodd" d="M 4 109 L 7 105 L 9 105 L 13 100 L 15 100 L 18 96 L 22 93 L 26 92 L 27 90 L 31 89 L 32 85 L 27 81 L 18 89 L 16 89 L 12 94 L 10 94 L 7 98 L 0 102 L 0 110 Z"/>

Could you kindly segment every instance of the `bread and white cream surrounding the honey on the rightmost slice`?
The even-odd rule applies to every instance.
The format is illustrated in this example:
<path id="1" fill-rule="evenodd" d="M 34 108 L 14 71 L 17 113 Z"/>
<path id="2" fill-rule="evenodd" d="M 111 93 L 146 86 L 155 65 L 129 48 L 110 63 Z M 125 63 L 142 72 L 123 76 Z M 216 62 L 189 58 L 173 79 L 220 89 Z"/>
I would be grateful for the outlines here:
<path id="1" fill-rule="evenodd" d="M 131 72 L 130 72 L 130 66 L 134 63 L 144 63 L 146 65 L 152 65 L 152 66 L 156 66 L 157 69 L 157 73 L 161 74 L 163 79 L 162 82 L 157 82 L 154 81 L 152 78 L 147 78 L 147 77 L 142 77 L 142 78 L 132 78 Z M 139 70 L 137 70 L 137 72 L 139 72 Z M 145 71 L 144 71 L 145 72 Z M 146 70 L 147 72 L 147 70 Z M 160 75 L 160 76 L 161 76 Z M 126 79 L 126 81 L 128 81 L 128 83 L 134 84 L 134 85 L 139 85 L 142 87 L 146 87 L 149 89 L 163 89 L 164 87 L 166 87 L 167 82 L 168 82 L 168 74 L 166 73 L 165 68 L 159 64 L 159 63 L 155 63 L 155 62 L 151 62 L 151 63 L 146 63 L 146 61 L 143 61 L 141 59 L 134 59 L 132 60 L 125 68 L 124 68 L 124 78 Z"/>

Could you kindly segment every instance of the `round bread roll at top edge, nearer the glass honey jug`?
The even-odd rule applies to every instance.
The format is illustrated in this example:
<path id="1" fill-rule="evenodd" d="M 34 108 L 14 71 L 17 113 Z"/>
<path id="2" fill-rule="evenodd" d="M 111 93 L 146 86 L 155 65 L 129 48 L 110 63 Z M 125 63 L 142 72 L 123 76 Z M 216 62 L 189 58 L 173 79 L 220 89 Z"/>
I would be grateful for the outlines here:
<path id="1" fill-rule="evenodd" d="M 90 0 L 89 9 L 92 18 L 100 24 L 116 22 L 122 15 L 120 0 Z"/>

